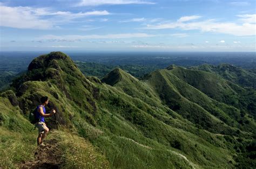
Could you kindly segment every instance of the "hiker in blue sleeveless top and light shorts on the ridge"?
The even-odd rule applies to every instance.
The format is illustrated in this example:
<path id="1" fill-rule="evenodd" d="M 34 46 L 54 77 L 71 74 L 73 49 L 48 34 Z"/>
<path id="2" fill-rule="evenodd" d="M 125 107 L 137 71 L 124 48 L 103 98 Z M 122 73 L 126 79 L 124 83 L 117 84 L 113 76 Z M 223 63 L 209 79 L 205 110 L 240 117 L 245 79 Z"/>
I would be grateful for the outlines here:
<path id="1" fill-rule="evenodd" d="M 48 127 L 45 124 L 44 117 L 50 117 L 56 113 L 55 109 L 52 109 L 50 114 L 46 114 L 45 106 L 48 104 L 49 100 L 47 96 L 41 97 L 40 99 L 41 105 L 37 106 L 36 118 L 38 122 L 36 123 L 36 127 L 38 128 L 38 137 L 37 137 L 37 145 L 44 145 L 43 140 L 49 132 Z"/>

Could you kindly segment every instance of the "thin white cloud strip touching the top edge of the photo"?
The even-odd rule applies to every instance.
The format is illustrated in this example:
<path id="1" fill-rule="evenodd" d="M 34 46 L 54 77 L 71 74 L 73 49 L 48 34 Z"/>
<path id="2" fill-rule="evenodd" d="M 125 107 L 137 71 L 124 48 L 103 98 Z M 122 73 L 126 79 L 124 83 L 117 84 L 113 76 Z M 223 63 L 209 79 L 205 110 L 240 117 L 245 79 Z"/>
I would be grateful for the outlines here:
<path id="1" fill-rule="evenodd" d="M 141 0 L 82 0 L 77 6 L 98 6 L 98 5 L 125 5 L 125 4 L 156 4 Z"/>

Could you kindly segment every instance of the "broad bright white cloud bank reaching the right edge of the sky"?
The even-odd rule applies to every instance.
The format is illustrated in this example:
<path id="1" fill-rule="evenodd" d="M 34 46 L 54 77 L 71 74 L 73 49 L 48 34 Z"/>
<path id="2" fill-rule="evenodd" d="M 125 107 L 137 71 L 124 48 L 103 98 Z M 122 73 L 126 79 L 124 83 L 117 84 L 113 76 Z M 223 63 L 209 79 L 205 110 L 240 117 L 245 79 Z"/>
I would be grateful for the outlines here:
<path id="1" fill-rule="evenodd" d="M 200 22 L 191 21 L 186 23 L 184 22 L 160 23 L 156 25 L 147 25 L 147 27 L 145 27 L 144 29 L 200 30 L 202 32 L 217 32 L 217 33 L 233 34 L 234 36 L 252 36 L 256 34 L 255 27 L 256 25 L 251 23 L 237 24 L 232 22 L 216 22 L 214 19 L 209 19 L 209 20 L 203 20 Z"/>

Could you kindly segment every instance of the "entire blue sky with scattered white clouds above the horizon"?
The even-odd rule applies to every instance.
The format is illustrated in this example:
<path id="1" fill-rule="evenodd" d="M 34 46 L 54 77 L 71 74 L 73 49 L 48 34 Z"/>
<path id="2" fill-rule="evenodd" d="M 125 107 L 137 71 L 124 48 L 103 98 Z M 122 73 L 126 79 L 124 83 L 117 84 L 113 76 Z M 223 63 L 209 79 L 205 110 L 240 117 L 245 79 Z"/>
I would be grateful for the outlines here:
<path id="1" fill-rule="evenodd" d="M 0 1 L 1 51 L 256 51 L 255 1 Z"/>

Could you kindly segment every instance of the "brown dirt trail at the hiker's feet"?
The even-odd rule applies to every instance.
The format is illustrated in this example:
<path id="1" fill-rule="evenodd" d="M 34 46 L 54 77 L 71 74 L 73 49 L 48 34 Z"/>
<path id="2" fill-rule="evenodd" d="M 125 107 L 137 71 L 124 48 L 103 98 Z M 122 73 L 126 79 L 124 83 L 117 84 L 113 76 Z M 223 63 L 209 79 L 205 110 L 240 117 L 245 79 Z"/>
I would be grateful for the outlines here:
<path id="1" fill-rule="evenodd" d="M 45 146 L 38 146 L 33 160 L 18 164 L 18 168 L 59 168 L 61 151 L 57 140 L 45 140 Z"/>

